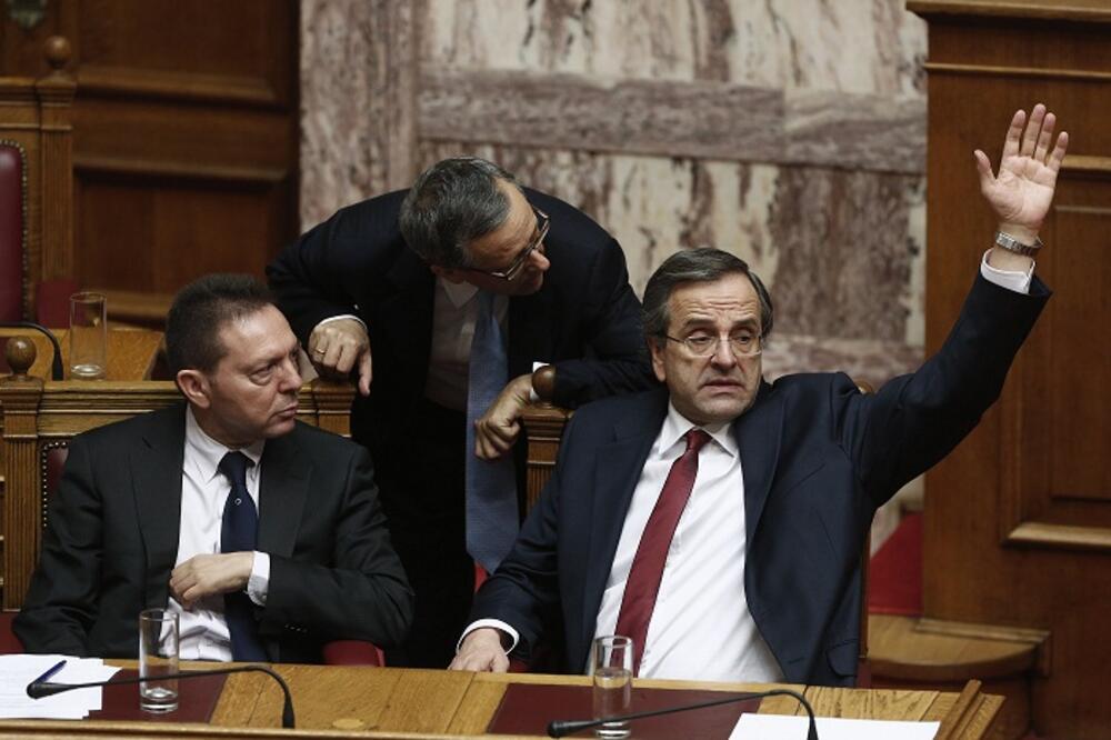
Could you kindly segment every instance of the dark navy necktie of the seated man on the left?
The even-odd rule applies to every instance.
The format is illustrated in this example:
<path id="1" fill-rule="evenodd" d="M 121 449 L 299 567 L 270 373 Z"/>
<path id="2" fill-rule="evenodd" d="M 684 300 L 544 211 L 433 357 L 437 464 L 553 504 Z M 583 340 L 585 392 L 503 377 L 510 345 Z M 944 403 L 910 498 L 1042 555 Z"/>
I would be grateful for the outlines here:
<path id="1" fill-rule="evenodd" d="M 258 539 L 259 514 L 247 491 L 247 469 L 254 463 L 242 452 L 229 452 L 220 460 L 220 472 L 231 481 L 231 492 L 223 506 L 220 552 L 253 552 Z M 267 660 L 266 648 L 254 621 L 254 606 L 243 591 L 223 594 L 224 617 L 231 633 L 231 659 L 258 662 Z"/>

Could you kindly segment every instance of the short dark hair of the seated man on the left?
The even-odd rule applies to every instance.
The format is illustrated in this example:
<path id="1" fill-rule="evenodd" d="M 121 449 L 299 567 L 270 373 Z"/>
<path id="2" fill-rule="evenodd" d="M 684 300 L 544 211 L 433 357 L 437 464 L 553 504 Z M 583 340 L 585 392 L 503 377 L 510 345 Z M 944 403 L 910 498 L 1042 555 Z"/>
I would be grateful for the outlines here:
<path id="1" fill-rule="evenodd" d="M 209 274 L 189 283 L 166 319 L 170 371 L 212 371 L 227 353 L 220 342 L 224 324 L 273 304 L 270 290 L 249 274 Z"/>

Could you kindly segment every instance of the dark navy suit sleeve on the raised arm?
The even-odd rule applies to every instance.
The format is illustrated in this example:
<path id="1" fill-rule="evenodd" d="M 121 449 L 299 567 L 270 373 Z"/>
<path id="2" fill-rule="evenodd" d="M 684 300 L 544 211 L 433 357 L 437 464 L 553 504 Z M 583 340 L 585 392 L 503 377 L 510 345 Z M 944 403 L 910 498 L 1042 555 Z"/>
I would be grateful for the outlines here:
<path id="1" fill-rule="evenodd" d="M 978 276 L 941 349 L 914 373 L 861 397 L 848 379 L 834 391 L 835 430 L 857 461 L 863 490 L 880 506 L 940 461 L 1002 392 L 1007 372 L 1050 291 L 1029 296 Z"/>

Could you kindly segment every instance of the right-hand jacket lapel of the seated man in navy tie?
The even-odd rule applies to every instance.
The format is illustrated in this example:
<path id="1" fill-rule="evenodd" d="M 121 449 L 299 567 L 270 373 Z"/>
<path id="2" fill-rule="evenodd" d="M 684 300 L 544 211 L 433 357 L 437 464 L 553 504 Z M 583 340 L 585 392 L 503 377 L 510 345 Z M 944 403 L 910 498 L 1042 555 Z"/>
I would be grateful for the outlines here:
<path id="1" fill-rule="evenodd" d="M 284 437 L 267 440 L 262 451 L 258 547 L 261 552 L 287 558 L 297 542 L 312 470 L 312 461 L 301 454 L 294 441 L 300 433 L 302 430 L 294 428 Z"/>

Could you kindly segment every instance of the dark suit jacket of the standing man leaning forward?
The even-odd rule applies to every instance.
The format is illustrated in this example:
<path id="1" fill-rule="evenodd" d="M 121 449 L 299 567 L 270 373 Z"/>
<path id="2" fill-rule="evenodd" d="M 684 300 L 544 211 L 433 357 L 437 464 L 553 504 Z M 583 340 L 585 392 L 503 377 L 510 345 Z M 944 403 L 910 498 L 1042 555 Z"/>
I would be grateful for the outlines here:
<path id="1" fill-rule="evenodd" d="M 379 463 L 394 457 L 398 420 L 424 394 L 431 348 L 436 278 L 398 229 L 407 192 L 340 210 L 267 270 L 302 342 L 331 316 L 367 322 L 373 381 L 370 397 L 356 399 L 352 432 Z M 571 408 L 653 386 L 620 246 L 568 203 L 534 190 L 526 196 L 551 217 L 551 269 L 537 293 L 509 301 L 509 377 L 531 372 L 533 361 L 553 363 L 556 402 Z"/>

